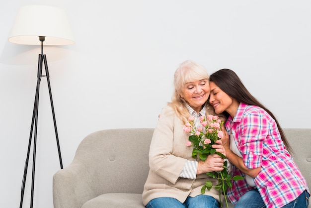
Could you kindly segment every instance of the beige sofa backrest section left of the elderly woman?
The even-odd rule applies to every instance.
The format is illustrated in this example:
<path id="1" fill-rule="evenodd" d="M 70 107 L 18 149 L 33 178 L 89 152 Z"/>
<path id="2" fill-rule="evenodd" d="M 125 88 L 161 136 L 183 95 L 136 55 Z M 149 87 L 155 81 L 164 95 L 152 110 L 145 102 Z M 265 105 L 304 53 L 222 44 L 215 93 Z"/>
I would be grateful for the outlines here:
<path id="1" fill-rule="evenodd" d="M 86 136 L 73 163 L 89 170 L 93 195 L 143 192 L 154 128 L 101 130 Z"/>

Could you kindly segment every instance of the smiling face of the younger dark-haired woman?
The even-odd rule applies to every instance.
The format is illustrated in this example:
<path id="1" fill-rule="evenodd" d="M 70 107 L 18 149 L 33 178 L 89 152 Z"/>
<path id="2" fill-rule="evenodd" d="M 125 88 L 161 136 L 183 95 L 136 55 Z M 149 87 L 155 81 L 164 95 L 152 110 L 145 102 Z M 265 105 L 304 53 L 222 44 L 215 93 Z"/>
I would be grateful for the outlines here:
<path id="1" fill-rule="evenodd" d="M 222 91 L 214 82 L 210 82 L 210 104 L 213 105 L 216 113 L 222 113 L 225 110 L 234 117 L 239 103 Z"/>

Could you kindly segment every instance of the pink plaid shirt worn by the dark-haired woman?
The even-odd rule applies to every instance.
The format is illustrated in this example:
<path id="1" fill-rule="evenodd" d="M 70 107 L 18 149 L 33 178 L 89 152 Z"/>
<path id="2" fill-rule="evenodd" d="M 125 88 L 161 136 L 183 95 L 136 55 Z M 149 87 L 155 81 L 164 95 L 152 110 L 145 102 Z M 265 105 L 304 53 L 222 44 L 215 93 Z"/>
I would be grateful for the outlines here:
<path id="1" fill-rule="evenodd" d="M 261 167 L 254 182 L 267 208 L 283 207 L 305 190 L 309 192 L 305 178 L 281 140 L 275 120 L 264 109 L 240 103 L 234 118 L 228 118 L 226 128 L 233 134 L 244 165 L 250 169 Z M 233 166 L 234 175 L 245 176 Z M 234 181 L 228 197 L 236 204 L 251 189 L 246 180 Z"/>

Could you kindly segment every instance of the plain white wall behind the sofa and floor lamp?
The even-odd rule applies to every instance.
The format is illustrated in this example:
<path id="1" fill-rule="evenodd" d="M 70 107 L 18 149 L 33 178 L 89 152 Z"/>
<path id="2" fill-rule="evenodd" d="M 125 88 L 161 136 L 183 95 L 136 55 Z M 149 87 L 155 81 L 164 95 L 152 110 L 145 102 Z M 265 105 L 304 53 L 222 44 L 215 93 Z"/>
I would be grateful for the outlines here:
<path id="1" fill-rule="evenodd" d="M 44 47 L 64 167 L 89 133 L 155 127 L 179 63 L 233 69 L 283 127 L 310 127 L 309 0 L 10 0 L 0 3 L 0 196 L 18 207 L 39 46 L 7 41 L 22 5 L 66 10 L 76 44 Z M 41 82 L 34 207 L 52 208 L 60 169 Z M 31 168 L 31 165 L 30 165 Z M 126 171 L 126 170 L 124 170 Z M 24 207 L 29 207 L 31 171 Z"/>

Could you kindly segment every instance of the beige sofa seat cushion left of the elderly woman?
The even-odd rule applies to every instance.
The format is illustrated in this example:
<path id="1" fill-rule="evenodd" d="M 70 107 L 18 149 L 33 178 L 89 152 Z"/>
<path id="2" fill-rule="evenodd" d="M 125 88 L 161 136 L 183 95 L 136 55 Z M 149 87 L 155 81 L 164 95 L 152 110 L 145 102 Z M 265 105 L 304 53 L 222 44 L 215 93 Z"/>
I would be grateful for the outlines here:
<path id="1" fill-rule="evenodd" d="M 86 202 L 81 208 L 145 208 L 141 194 L 102 194 Z"/>

